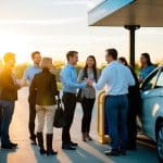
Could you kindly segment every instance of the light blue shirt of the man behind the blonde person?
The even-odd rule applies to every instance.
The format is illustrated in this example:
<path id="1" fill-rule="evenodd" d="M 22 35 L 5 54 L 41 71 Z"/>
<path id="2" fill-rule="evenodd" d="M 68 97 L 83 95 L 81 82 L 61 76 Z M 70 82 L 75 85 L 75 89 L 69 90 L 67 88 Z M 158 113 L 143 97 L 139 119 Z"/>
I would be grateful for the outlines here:
<path id="1" fill-rule="evenodd" d="M 23 80 L 27 80 L 27 85 L 30 86 L 34 76 L 40 72 L 40 67 L 37 67 L 35 65 L 29 66 L 24 73 Z"/>

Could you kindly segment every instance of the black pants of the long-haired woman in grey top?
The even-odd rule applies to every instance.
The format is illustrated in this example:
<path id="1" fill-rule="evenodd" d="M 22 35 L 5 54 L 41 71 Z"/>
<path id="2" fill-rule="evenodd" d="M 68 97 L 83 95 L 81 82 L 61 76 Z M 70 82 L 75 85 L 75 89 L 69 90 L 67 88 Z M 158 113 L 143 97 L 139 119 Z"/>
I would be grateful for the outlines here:
<path id="1" fill-rule="evenodd" d="M 91 113 L 95 104 L 95 99 L 84 98 L 82 102 L 84 115 L 82 120 L 82 133 L 90 131 Z"/>

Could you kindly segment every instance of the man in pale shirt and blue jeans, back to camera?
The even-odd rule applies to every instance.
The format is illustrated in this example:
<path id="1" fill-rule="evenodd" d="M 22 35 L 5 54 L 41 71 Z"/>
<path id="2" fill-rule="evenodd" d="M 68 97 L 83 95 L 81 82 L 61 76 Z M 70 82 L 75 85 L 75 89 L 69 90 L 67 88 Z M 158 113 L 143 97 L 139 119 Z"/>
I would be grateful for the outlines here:
<path id="1" fill-rule="evenodd" d="M 105 117 L 111 137 L 111 150 L 106 155 L 126 155 L 128 87 L 135 85 L 133 75 L 127 66 L 118 63 L 117 51 L 108 49 L 105 60 L 109 63 L 102 71 L 98 83 L 92 85 L 100 90 L 105 88 Z"/>

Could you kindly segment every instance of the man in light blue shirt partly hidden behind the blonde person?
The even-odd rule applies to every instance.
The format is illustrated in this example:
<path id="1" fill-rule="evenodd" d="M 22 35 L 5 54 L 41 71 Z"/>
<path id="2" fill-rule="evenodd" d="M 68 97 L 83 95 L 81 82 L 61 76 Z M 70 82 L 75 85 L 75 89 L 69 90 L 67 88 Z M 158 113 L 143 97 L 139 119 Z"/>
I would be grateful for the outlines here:
<path id="1" fill-rule="evenodd" d="M 23 80 L 22 80 L 24 86 L 27 85 L 28 87 L 30 87 L 30 84 L 32 84 L 34 76 L 41 72 L 41 68 L 39 65 L 40 61 L 41 61 L 40 52 L 39 51 L 33 52 L 32 53 L 32 60 L 34 62 L 34 65 L 29 66 L 25 71 L 24 76 L 23 76 Z M 29 93 L 29 96 L 28 96 L 28 103 L 29 103 L 28 129 L 29 129 L 29 135 L 30 135 L 29 138 L 32 141 L 32 145 L 36 145 L 36 134 L 35 134 L 35 118 L 36 118 L 35 106 L 36 106 L 36 103 L 35 103 L 35 100 L 36 100 L 36 95 Z"/>

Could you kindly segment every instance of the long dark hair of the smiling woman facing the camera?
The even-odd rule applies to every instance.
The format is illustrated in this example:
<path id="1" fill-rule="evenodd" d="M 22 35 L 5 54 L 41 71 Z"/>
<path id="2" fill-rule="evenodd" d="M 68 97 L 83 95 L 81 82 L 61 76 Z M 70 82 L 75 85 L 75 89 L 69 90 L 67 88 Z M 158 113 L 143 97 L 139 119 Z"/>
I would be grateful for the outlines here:
<path id="1" fill-rule="evenodd" d="M 98 80 L 98 76 L 97 76 L 97 61 L 96 61 L 96 58 L 93 55 L 89 55 L 87 58 L 88 59 L 92 59 L 95 64 L 92 65 L 92 71 L 93 71 L 93 77 L 95 77 L 95 80 L 97 82 Z M 88 64 L 87 64 L 87 61 L 86 61 L 86 64 L 85 64 L 85 67 L 84 67 L 84 77 L 88 77 L 88 72 L 87 72 L 87 68 L 88 68 Z"/>

